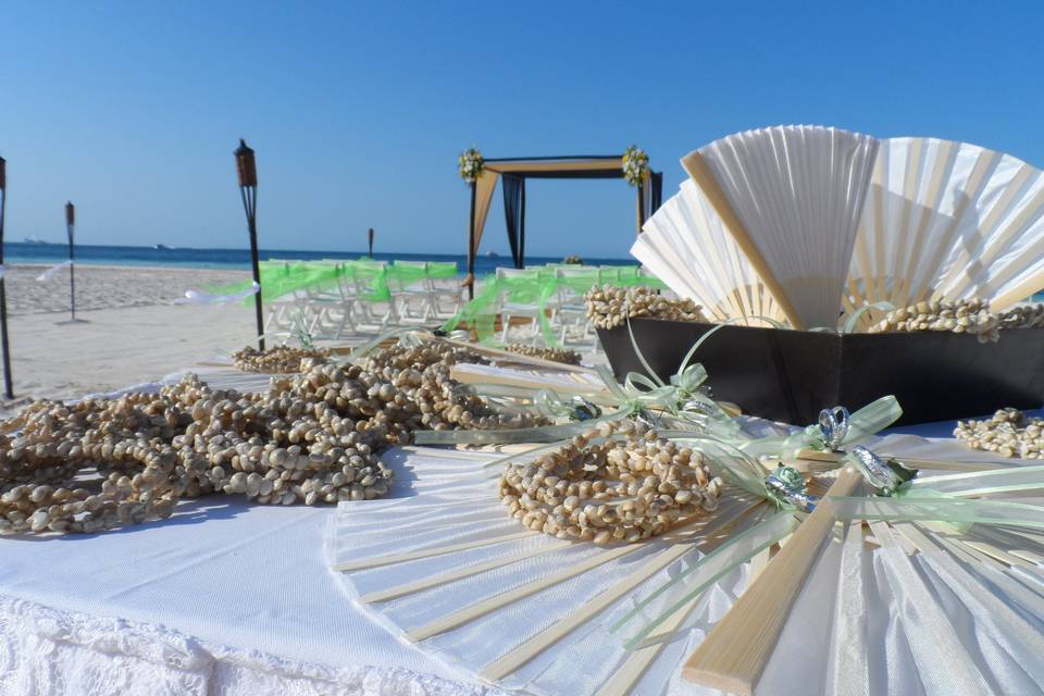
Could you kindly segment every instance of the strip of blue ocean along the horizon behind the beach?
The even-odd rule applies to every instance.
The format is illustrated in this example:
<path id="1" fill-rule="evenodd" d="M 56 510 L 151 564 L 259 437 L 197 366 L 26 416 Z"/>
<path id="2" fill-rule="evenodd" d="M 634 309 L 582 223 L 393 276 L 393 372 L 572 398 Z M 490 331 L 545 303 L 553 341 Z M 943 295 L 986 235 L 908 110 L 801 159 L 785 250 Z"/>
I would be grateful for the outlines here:
<path id="1" fill-rule="evenodd" d="M 53 265 L 69 258 L 69 247 L 63 244 L 27 244 L 9 241 L 3 245 L 4 262 L 38 263 Z M 358 259 L 364 251 L 304 251 L 296 249 L 261 249 L 262 261 L 270 259 Z M 445 253 L 377 253 L 377 261 L 453 261 L 461 275 L 468 266 L 463 254 Z M 527 265 L 559 263 L 561 257 L 529 257 Z M 584 258 L 586 263 L 602 265 L 631 265 L 634 259 Z M 107 247 L 94 245 L 76 246 L 76 263 L 79 265 L 126 265 L 126 266 L 167 266 L 186 269 L 250 269 L 249 249 L 156 249 L 153 247 Z M 475 274 L 494 273 L 497 266 L 510 266 L 511 257 L 486 257 L 475 259 Z"/>

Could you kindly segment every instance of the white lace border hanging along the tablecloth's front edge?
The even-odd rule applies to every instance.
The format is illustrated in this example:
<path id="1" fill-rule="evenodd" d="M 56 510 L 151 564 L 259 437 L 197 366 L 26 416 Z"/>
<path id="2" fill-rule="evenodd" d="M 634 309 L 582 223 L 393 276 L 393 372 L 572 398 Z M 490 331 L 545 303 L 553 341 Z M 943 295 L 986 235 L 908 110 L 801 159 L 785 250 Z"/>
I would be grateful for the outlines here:
<path id="1" fill-rule="evenodd" d="M 0 693 L 494 696 L 398 667 L 326 667 L 0 596 Z"/>

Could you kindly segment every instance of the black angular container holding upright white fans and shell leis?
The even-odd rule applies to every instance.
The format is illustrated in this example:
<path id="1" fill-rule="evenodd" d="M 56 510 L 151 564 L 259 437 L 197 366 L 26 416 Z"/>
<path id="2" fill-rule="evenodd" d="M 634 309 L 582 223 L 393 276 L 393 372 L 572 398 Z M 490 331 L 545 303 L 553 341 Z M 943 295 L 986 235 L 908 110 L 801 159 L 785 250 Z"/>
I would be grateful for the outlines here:
<path id="1" fill-rule="evenodd" d="M 649 366 L 662 380 L 714 324 L 632 319 Z M 598 330 L 622 378 L 644 372 L 626 326 Z M 1036 409 L 1044 403 L 1044 328 L 1008 328 L 997 343 L 952 332 L 831 334 L 723 326 L 696 351 L 714 398 L 745 413 L 806 425 L 832 406 L 856 410 L 892 394 L 898 423 L 929 423 Z"/>

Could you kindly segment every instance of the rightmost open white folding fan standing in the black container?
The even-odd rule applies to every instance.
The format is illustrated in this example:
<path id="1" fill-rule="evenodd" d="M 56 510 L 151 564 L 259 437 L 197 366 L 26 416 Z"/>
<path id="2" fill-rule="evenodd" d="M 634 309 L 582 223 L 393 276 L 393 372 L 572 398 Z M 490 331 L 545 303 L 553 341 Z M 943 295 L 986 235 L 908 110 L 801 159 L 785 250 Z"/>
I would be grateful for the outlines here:
<path id="1" fill-rule="evenodd" d="M 936 138 L 881 141 L 845 306 L 985 299 L 1044 288 L 1044 172 Z"/>

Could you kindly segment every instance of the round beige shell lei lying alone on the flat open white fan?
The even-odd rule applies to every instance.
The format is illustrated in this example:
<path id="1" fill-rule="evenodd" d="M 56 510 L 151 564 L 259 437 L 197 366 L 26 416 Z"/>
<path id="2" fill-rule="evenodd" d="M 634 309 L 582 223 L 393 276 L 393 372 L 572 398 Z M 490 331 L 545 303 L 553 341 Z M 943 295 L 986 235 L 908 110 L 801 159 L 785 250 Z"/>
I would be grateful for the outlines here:
<path id="1" fill-rule="evenodd" d="M 699 452 L 621 420 L 508 464 L 500 499 L 533 531 L 605 545 L 648 539 L 713 512 L 721 486 Z"/>

